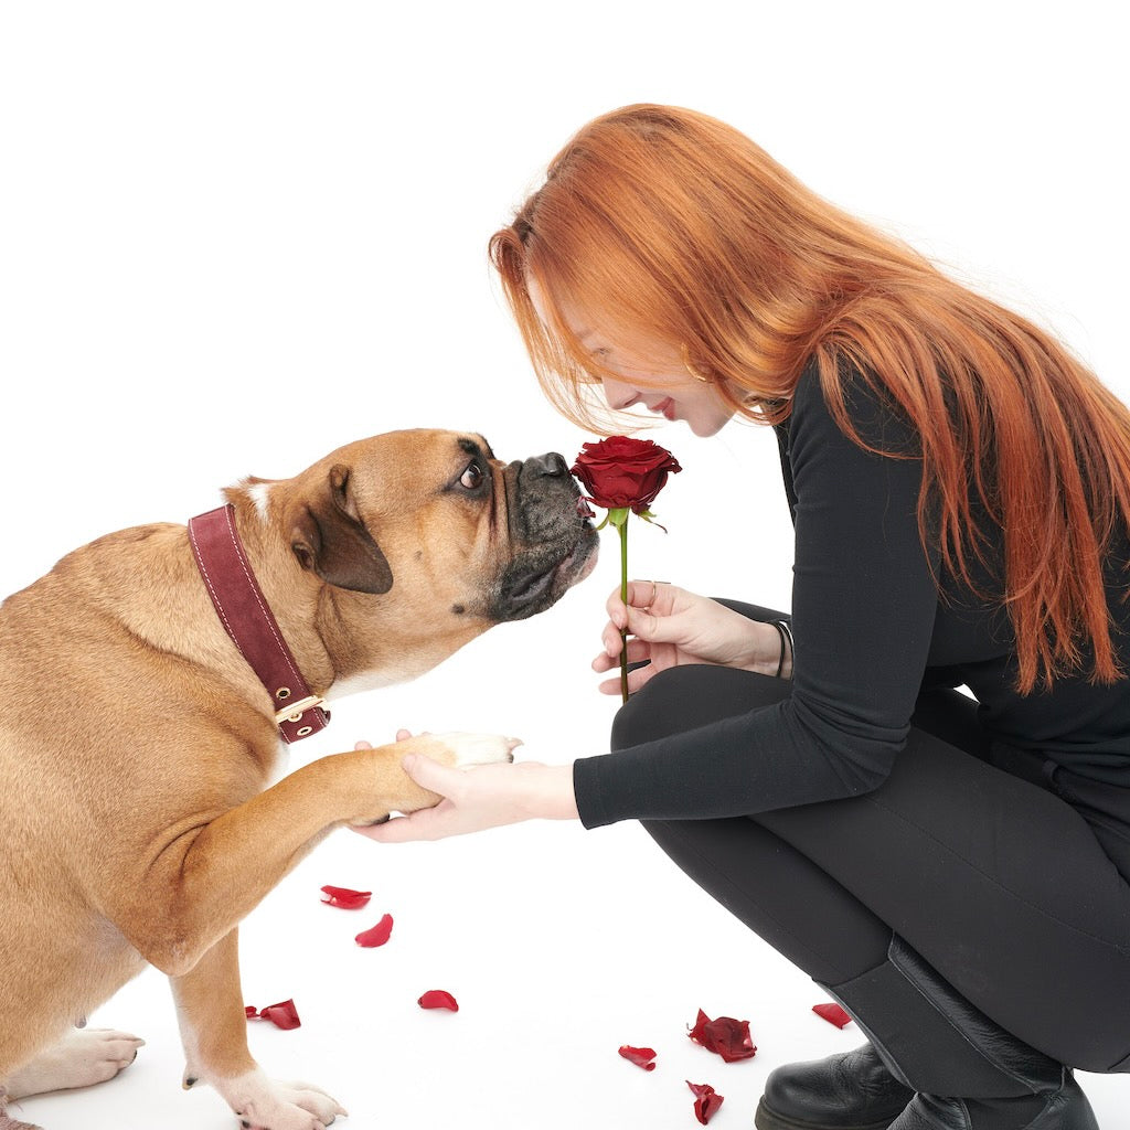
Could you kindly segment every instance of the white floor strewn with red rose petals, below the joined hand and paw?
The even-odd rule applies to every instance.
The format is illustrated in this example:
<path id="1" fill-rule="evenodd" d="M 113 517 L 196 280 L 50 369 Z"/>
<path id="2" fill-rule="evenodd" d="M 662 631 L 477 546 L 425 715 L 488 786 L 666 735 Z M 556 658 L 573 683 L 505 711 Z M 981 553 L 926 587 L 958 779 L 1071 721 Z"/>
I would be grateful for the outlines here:
<path id="1" fill-rule="evenodd" d="M 359 912 L 320 905 L 323 883 L 372 888 Z M 391 941 L 353 936 L 385 911 Z M 819 990 L 689 883 L 637 827 L 525 827 L 441 845 L 371 850 L 341 833 L 244 929 L 245 999 L 293 997 L 303 1026 L 254 1023 L 251 1044 L 279 1078 L 330 1090 L 344 1130 L 689 1130 L 686 1081 L 725 1102 L 711 1122 L 745 1128 L 775 1066 L 854 1046 L 810 1008 Z M 458 1014 L 416 999 L 447 989 Z M 693 1044 L 698 1008 L 748 1019 L 757 1055 L 723 1063 Z M 182 1093 L 163 979 L 149 973 L 92 1024 L 148 1041 L 113 1083 L 28 1099 L 47 1130 L 231 1130 L 207 1088 Z M 644 1072 L 620 1044 L 654 1048 Z M 1130 1124 L 1130 1081 L 1084 1077 L 1104 1130 Z"/>

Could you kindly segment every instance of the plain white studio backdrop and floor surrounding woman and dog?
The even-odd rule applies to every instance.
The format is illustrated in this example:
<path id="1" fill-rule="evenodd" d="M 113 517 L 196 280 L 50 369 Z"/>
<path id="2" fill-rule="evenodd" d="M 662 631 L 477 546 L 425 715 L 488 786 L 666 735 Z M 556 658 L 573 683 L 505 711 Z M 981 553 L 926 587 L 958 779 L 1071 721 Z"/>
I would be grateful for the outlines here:
<path id="1" fill-rule="evenodd" d="M 285 477 L 402 426 L 486 433 L 506 459 L 588 436 L 540 399 L 485 257 L 567 137 L 631 102 L 693 106 L 808 184 L 1058 330 L 1123 397 L 1127 84 L 1114 6 L 903 2 L 394 7 L 0 3 L 0 591 L 125 525 L 183 521 L 246 473 Z M 633 572 L 788 607 L 772 435 L 653 433 L 685 472 L 637 525 Z M 589 660 L 616 583 L 423 681 L 336 710 L 297 765 L 397 727 L 502 730 L 550 762 L 607 748 Z M 18 703 L 6 705 L 18 710 Z M 155 755 L 159 756 L 159 755 Z M 323 883 L 374 890 L 346 914 Z M 385 911 L 383 949 L 353 935 Z M 252 1027 L 354 1128 L 696 1125 L 684 1080 L 748 1127 L 765 1074 L 854 1046 L 805 977 L 635 826 L 528 825 L 436 845 L 339 833 L 246 922 Z M 443 988 L 458 1015 L 416 998 Z M 748 1018 L 725 1066 L 696 1009 Z M 1124 1008 L 1124 1001 L 1112 1001 Z M 94 1023 L 149 1041 L 118 1080 L 24 1104 L 50 1130 L 233 1125 L 179 1090 L 162 979 Z M 660 1067 L 620 1060 L 650 1044 Z M 1128 1086 L 1087 1077 L 1104 1125 Z"/>

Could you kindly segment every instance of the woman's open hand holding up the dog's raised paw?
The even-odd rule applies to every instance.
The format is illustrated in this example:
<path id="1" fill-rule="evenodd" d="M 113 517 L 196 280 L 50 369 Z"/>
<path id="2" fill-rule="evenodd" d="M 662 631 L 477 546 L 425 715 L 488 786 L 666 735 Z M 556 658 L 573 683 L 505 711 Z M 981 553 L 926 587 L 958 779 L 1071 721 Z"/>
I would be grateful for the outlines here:
<path id="1" fill-rule="evenodd" d="M 397 740 L 408 737 L 407 730 Z M 363 749 L 366 742 L 358 742 Z M 384 824 L 353 828 L 379 843 L 443 840 L 481 832 L 537 817 L 576 819 L 572 765 L 518 762 L 513 765 L 475 765 L 457 770 L 420 754 L 403 759 L 405 772 L 443 800 L 410 816 L 394 816 Z"/>

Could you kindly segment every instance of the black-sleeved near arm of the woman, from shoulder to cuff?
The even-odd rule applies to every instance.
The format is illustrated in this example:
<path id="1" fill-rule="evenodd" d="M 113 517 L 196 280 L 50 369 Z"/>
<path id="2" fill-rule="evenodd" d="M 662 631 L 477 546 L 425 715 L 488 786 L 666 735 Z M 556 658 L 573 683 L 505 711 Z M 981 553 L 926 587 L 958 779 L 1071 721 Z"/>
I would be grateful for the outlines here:
<path id="1" fill-rule="evenodd" d="M 815 366 L 798 382 L 788 459 L 796 555 L 790 696 L 614 754 L 579 758 L 586 827 L 706 819 L 859 796 L 906 742 L 938 609 L 937 551 L 918 527 L 916 433 L 867 383 L 845 379 L 866 451 L 836 425 Z M 931 559 L 932 558 L 932 559 Z"/>

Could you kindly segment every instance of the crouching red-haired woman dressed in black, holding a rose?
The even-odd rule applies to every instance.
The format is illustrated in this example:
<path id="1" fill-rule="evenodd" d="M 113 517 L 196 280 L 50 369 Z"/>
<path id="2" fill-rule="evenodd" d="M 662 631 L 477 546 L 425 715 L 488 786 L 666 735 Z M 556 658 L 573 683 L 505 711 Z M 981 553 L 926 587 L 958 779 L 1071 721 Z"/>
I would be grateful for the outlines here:
<path id="1" fill-rule="evenodd" d="M 612 753 L 417 759 L 445 801 L 370 834 L 643 820 L 869 1037 L 775 1070 L 762 1130 L 1094 1128 L 1070 1068 L 1130 1069 L 1130 412 L 684 110 L 582 129 L 492 255 L 571 418 L 774 426 L 792 616 L 633 582 Z"/>

